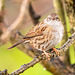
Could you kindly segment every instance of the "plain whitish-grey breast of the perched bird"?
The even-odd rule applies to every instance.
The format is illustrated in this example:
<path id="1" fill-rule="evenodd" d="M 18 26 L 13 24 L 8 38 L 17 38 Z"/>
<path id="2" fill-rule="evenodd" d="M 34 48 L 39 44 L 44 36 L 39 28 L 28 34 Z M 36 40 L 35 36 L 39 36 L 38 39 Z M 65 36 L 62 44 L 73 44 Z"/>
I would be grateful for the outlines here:
<path id="1" fill-rule="evenodd" d="M 63 37 L 64 28 L 63 26 L 55 26 L 52 30 L 52 40 L 53 40 L 53 46 L 56 46 Z"/>

